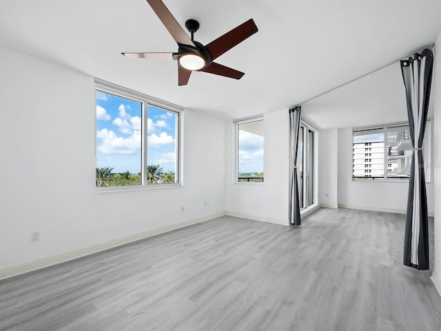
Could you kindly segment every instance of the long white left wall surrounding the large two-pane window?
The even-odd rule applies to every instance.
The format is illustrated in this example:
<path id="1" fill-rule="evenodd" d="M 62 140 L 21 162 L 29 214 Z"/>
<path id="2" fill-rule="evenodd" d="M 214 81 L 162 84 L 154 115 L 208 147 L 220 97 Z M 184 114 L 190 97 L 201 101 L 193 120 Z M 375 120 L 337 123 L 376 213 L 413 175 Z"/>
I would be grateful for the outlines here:
<path id="1" fill-rule="evenodd" d="M 0 62 L 0 276 L 225 211 L 225 121 L 185 110 L 184 187 L 96 193 L 94 78 L 5 48 Z"/>

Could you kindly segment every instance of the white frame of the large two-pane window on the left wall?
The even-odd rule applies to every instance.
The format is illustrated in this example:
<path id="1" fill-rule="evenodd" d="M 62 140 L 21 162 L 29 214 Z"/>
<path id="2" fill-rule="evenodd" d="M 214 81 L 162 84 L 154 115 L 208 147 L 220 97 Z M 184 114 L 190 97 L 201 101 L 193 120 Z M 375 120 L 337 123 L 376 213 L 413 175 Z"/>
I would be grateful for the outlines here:
<path id="1" fill-rule="evenodd" d="M 155 188 L 176 188 L 183 186 L 183 113 L 184 108 L 181 106 L 175 105 L 174 103 L 170 103 L 167 101 L 163 101 L 161 99 L 156 99 L 154 97 L 150 97 L 147 94 L 143 94 L 141 92 L 136 92 L 134 90 L 130 90 L 128 88 L 123 88 L 122 86 L 118 86 L 113 83 L 109 83 L 107 81 L 103 81 L 101 79 L 95 79 L 94 84 L 94 161 L 95 161 L 95 169 L 97 165 L 96 161 L 96 92 L 101 91 L 108 94 L 114 94 L 117 97 L 122 97 L 125 99 L 130 99 L 132 101 L 136 101 L 141 103 L 141 184 L 140 185 L 119 185 L 119 186 L 105 186 L 105 187 L 96 187 L 94 185 L 95 192 L 117 192 L 117 191 L 126 191 L 126 190 L 148 190 Z M 155 183 L 155 184 L 147 184 L 147 108 L 148 106 L 152 106 L 158 108 L 160 110 L 165 110 L 167 112 L 173 112 L 176 114 L 176 126 L 175 126 L 175 154 L 176 154 L 176 173 L 175 180 L 176 183 Z M 95 170 L 94 170 L 95 172 Z M 94 175 L 96 178 L 96 175 Z"/>

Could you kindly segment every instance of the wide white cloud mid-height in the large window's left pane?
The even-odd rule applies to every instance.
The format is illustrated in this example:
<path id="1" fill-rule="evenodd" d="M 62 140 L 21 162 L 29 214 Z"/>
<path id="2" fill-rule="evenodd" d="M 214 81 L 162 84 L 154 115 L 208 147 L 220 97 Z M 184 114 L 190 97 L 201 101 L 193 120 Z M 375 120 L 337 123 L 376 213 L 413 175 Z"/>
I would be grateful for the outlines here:
<path id="1" fill-rule="evenodd" d="M 96 132 L 96 137 L 102 139 L 96 148 L 104 154 L 138 154 L 141 151 L 141 132 L 134 131 L 130 137 L 123 138 L 112 130 L 103 129 Z"/>

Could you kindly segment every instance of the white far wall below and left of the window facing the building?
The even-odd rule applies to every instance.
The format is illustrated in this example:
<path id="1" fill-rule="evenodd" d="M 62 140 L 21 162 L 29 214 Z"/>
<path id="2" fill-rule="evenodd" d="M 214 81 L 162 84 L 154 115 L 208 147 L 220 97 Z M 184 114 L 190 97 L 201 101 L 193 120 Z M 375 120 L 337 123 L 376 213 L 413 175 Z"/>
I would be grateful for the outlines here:
<path id="1" fill-rule="evenodd" d="M 433 144 L 432 144 L 433 145 Z M 338 130 L 338 205 L 343 208 L 406 212 L 408 181 L 352 180 L 352 130 Z M 433 214 L 433 181 L 426 184 L 427 208 Z"/>

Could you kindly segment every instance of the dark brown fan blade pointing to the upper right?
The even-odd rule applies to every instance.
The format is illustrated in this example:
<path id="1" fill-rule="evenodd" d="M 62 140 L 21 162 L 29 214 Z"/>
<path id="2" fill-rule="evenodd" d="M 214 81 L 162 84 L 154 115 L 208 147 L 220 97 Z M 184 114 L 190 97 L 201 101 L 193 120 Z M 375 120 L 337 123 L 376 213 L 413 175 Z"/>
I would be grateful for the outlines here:
<path id="1" fill-rule="evenodd" d="M 257 31 L 258 28 L 253 19 L 249 19 L 245 23 L 240 24 L 240 26 L 212 41 L 205 46 L 205 48 L 207 48 L 209 54 L 212 56 L 212 60 L 214 60 L 227 52 L 227 50 L 231 50 L 234 46 L 241 43 L 252 34 L 255 34 Z"/>

